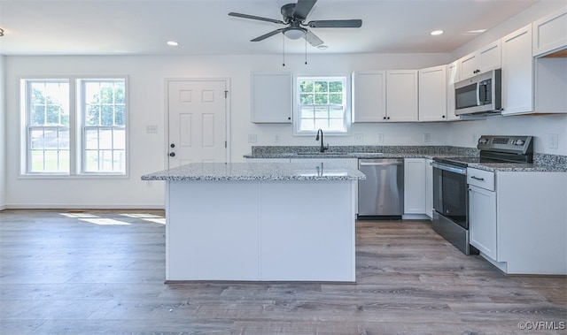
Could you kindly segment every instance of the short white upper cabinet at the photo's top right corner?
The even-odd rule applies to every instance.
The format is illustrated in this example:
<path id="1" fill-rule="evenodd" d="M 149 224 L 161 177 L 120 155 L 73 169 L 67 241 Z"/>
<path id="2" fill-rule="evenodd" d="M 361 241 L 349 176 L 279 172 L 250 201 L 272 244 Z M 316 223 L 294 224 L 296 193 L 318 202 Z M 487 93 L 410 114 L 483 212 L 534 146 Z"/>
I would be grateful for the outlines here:
<path id="1" fill-rule="evenodd" d="M 567 48 L 567 7 L 533 22 L 533 56 Z"/>

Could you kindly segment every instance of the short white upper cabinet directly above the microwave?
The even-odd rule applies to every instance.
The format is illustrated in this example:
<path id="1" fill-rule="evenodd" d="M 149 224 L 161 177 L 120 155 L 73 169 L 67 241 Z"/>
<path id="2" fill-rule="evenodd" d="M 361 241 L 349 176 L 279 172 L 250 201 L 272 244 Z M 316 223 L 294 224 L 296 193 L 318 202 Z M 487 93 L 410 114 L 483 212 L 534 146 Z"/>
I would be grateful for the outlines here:
<path id="1" fill-rule="evenodd" d="M 501 67 L 500 40 L 490 43 L 482 49 L 458 60 L 460 80 L 465 80 L 482 72 Z"/>

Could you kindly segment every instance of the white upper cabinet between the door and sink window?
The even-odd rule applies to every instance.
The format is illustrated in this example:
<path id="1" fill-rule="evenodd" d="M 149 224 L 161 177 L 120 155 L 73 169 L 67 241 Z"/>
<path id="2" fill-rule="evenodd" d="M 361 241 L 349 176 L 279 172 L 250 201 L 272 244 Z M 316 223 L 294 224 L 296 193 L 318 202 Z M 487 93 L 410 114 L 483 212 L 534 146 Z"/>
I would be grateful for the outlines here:
<path id="1" fill-rule="evenodd" d="M 252 122 L 291 123 L 291 72 L 252 73 Z"/>

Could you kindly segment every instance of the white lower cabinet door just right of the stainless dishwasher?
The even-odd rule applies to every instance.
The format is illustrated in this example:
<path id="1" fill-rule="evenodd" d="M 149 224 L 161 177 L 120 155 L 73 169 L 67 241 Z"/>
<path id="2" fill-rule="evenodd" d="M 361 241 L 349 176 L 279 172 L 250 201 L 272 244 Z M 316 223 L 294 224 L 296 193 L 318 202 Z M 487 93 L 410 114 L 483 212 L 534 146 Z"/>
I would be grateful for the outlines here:
<path id="1" fill-rule="evenodd" d="M 425 158 L 404 159 L 404 213 L 425 213 Z"/>

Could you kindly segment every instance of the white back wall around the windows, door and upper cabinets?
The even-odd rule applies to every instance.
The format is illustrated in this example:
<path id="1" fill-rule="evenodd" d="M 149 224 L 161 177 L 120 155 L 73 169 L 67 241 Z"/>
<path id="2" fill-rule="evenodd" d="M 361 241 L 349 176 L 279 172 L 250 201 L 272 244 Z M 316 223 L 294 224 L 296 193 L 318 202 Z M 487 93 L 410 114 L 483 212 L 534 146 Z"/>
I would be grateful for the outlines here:
<path id="1" fill-rule="evenodd" d="M 251 151 L 249 133 L 258 135 L 255 145 L 317 145 L 311 137 L 293 137 L 290 125 L 254 125 L 250 122 L 250 73 L 291 71 L 300 74 L 355 70 L 420 68 L 445 64 L 447 54 L 429 55 L 332 55 L 286 56 L 195 56 L 195 57 L 5 57 L 6 78 L 6 203 L 12 208 L 151 208 L 161 207 L 164 187 L 151 185 L 140 176 L 165 168 L 165 79 L 229 78 L 233 162 Z M 129 82 L 129 175 L 124 179 L 29 179 L 19 176 L 19 79 L 35 76 L 126 74 Z M 148 125 L 158 125 L 158 133 L 145 133 Z M 431 144 L 446 143 L 449 128 L 444 124 L 354 125 L 353 133 L 363 133 L 364 141 L 350 137 L 326 137 L 333 145 L 423 144 L 423 132 L 431 133 Z M 273 134 L 280 141 L 273 142 Z"/>

